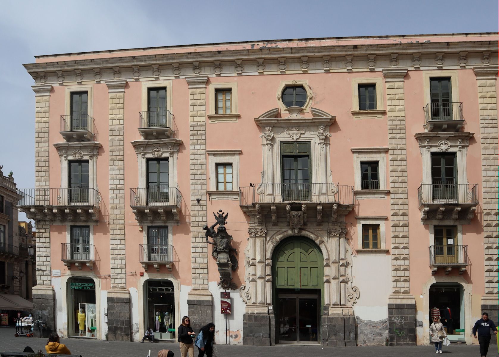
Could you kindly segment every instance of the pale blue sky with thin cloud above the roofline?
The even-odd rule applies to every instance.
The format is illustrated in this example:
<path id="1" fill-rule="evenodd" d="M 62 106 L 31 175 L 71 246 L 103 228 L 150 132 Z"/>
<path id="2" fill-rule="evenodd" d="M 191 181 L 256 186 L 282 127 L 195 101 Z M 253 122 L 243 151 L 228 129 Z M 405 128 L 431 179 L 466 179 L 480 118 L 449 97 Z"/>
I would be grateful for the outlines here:
<path id="1" fill-rule="evenodd" d="M 480 5 L 477 5 L 480 4 Z M 497 0 L 3 0 L 0 165 L 34 187 L 35 55 L 312 37 L 495 32 Z M 20 215 L 20 219 L 25 219 Z"/>

